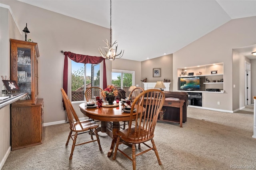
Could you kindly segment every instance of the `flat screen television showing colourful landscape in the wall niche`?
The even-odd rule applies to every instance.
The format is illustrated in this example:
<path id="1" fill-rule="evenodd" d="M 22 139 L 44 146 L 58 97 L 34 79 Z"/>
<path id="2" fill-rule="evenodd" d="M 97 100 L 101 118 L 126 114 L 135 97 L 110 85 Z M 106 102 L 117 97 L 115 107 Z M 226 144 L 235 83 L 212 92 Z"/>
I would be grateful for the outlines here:
<path id="1" fill-rule="evenodd" d="M 200 77 L 180 77 L 180 90 L 200 89 Z"/>

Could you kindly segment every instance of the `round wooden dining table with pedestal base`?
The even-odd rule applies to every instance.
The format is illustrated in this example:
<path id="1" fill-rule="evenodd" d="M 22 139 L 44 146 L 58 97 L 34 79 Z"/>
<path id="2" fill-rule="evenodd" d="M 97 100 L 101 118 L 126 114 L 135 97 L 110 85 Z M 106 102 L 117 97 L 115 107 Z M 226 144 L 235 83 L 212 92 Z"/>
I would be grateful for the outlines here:
<path id="1" fill-rule="evenodd" d="M 98 131 L 101 132 L 106 132 L 109 136 L 112 136 L 112 143 L 110 146 L 110 150 L 108 151 L 108 157 L 110 157 L 113 153 L 116 140 L 117 140 L 117 135 L 116 131 L 120 130 L 120 121 L 130 121 L 130 112 L 126 113 L 122 111 L 122 109 L 125 107 L 122 103 L 119 103 L 117 105 L 114 103 L 114 105 L 117 105 L 115 107 L 111 107 L 111 105 L 108 106 L 102 106 L 100 108 L 95 107 L 95 108 L 87 108 L 86 103 L 81 103 L 79 105 L 80 111 L 86 115 L 87 117 L 95 120 L 101 121 L 101 127 L 97 129 Z M 140 109 L 138 109 L 140 110 Z M 143 112 L 144 112 L 143 108 Z M 136 112 L 133 113 L 133 119 L 136 117 Z M 113 122 L 110 123 L 109 122 Z M 110 125 L 110 126 L 109 126 Z"/>

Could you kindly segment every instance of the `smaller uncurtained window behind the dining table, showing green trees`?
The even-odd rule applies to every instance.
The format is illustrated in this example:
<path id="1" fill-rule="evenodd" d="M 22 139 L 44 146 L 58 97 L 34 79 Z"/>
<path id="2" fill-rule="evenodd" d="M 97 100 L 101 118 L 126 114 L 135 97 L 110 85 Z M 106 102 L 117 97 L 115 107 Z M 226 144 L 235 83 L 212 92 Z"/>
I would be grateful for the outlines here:
<path id="1" fill-rule="evenodd" d="M 112 85 L 117 89 L 124 89 L 126 97 L 130 86 L 134 85 L 135 71 L 112 69 Z"/>

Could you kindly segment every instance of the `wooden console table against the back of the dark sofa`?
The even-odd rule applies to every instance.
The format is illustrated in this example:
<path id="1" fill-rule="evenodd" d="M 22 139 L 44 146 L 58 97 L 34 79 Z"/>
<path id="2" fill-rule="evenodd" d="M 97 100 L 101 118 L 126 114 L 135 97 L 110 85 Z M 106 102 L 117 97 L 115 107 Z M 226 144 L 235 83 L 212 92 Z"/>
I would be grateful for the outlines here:
<path id="1" fill-rule="evenodd" d="M 178 107 L 180 108 L 180 127 L 182 127 L 182 107 L 184 105 L 185 100 L 184 99 L 180 99 L 180 100 L 170 100 L 170 99 L 165 99 L 164 101 L 164 106 L 165 107 Z M 172 113 L 165 113 L 165 114 L 172 114 Z M 176 122 L 177 121 L 172 121 L 172 120 L 168 120 L 168 119 L 158 119 L 158 121 L 164 121 L 164 122 Z"/>

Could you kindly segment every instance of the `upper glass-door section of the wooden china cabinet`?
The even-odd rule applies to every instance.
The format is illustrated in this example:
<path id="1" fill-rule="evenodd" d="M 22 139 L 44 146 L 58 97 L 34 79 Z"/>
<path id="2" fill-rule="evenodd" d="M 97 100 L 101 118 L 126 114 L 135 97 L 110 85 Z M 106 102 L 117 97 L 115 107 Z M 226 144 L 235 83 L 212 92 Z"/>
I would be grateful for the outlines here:
<path id="1" fill-rule="evenodd" d="M 11 42 L 11 80 L 18 83 L 21 93 L 28 93 L 16 104 L 35 104 L 38 97 L 37 43 L 22 40 Z"/>

